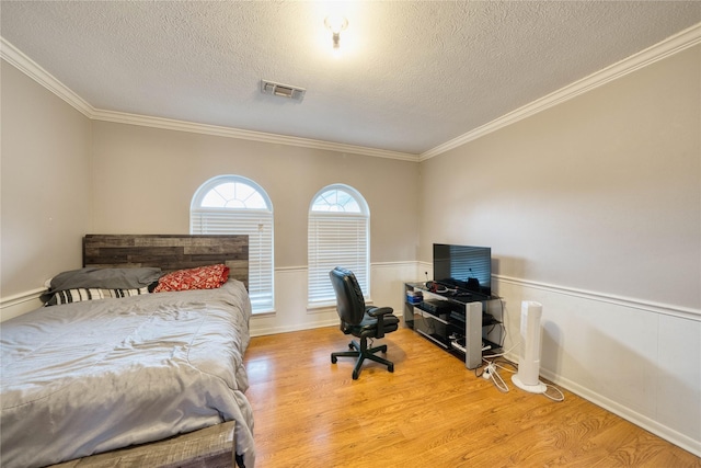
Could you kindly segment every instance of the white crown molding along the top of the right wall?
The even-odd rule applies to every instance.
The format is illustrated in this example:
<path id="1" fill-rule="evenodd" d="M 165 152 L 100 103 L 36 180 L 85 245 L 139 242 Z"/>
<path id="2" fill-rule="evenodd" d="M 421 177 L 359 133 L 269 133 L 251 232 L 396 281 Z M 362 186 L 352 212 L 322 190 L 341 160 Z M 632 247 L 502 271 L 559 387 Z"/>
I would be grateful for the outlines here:
<path id="1" fill-rule="evenodd" d="M 418 156 L 425 161 L 701 43 L 701 23 Z"/>

